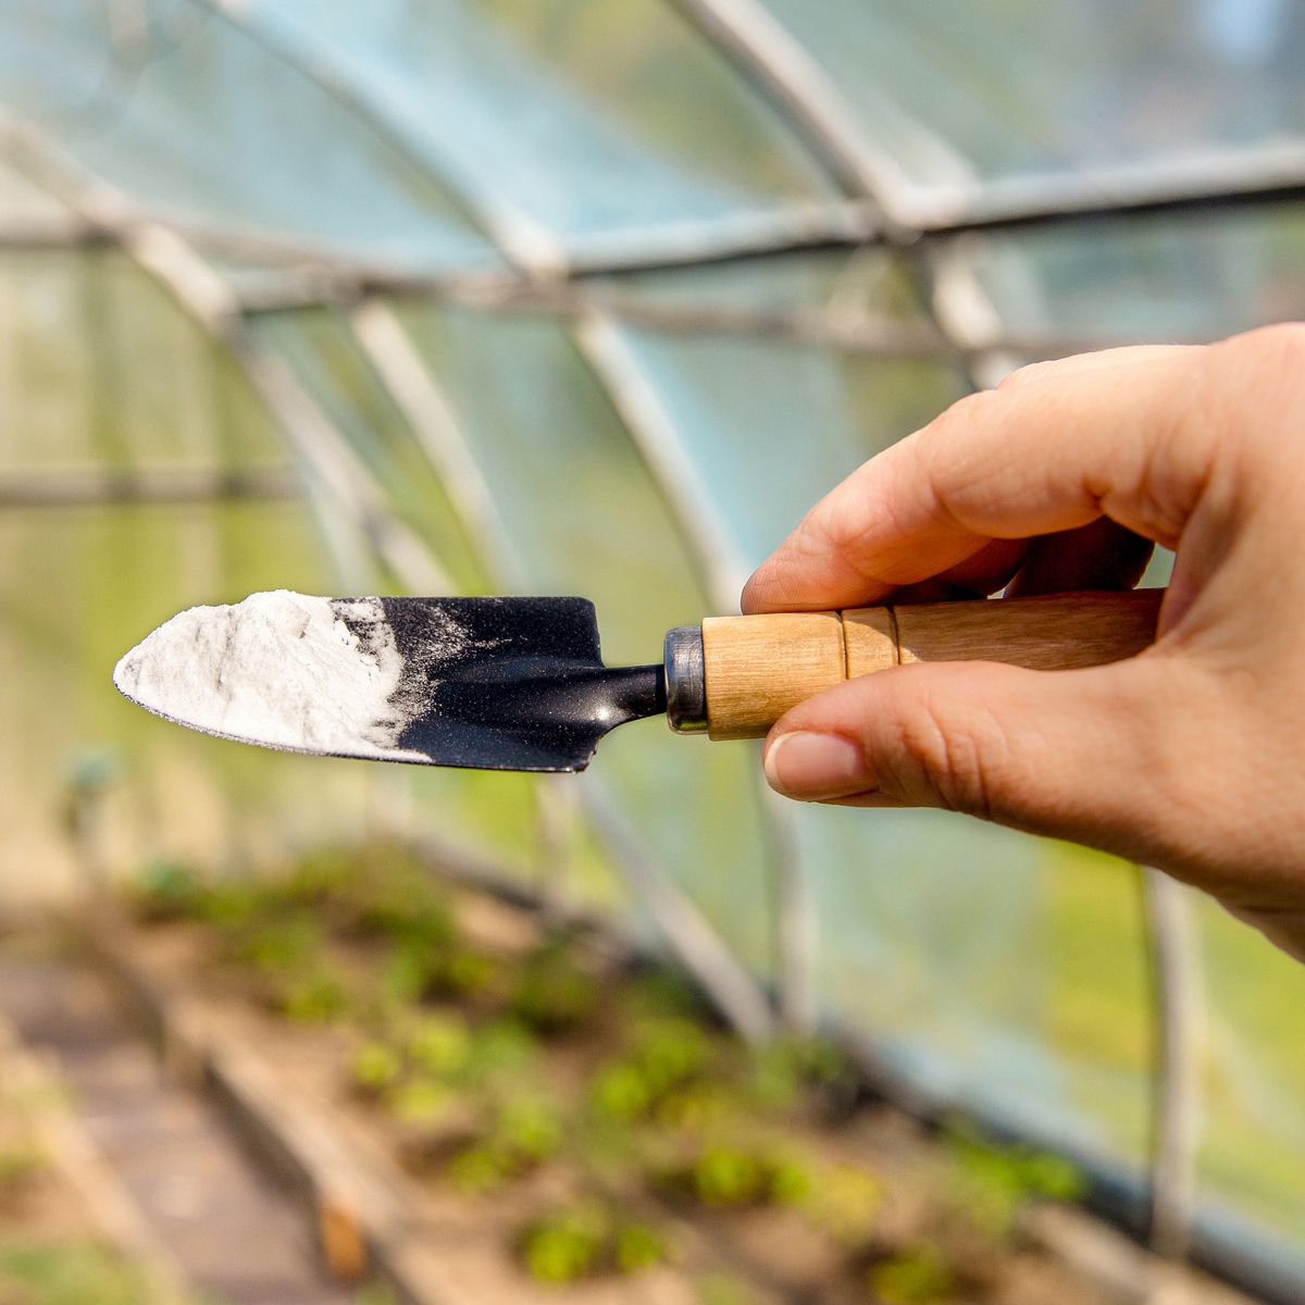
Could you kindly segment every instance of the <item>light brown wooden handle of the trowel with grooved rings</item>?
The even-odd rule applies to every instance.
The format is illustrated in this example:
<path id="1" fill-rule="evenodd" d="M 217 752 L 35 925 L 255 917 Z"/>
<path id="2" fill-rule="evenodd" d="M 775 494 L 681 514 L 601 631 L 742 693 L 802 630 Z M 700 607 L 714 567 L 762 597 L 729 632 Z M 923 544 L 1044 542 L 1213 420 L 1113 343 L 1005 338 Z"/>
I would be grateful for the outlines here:
<path id="1" fill-rule="evenodd" d="M 707 733 L 760 737 L 804 698 L 910 662 L 1005 662 L 1034 671 L 1122 662 L 1155 641 L 1163 598 L 1163 589 L 1139 589 L 709 617 Z"/>

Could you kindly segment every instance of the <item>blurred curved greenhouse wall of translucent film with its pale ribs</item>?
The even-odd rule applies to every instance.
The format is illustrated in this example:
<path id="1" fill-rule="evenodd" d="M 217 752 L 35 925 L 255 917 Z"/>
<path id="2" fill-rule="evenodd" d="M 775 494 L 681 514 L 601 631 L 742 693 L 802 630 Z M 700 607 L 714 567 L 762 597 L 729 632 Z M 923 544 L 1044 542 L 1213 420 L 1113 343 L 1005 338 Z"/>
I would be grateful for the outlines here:
<path id="1" fill-rule="evenodd" d="M 655 658 L 975 386 L 1305 316 L 1301 68 L 1291 0 L 3 7 L 0 890 L 399 830 L 1298 1298 L 1305 971 L 1199 895 L 654 723 L 578 778 L 322 762 L 110 669 L 279 587 L 582 594 Z"/>

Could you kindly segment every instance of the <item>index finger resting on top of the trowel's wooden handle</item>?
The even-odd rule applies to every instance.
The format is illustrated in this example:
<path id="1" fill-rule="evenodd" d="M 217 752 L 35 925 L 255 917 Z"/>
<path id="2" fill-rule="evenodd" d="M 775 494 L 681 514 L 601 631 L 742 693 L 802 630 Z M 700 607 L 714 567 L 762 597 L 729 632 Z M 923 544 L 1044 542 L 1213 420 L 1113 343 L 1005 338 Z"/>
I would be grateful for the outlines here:
<path id="1" fill-rule="evenodd" d="M 1172 547 L 1211 458 L 1195 403 L 1208 352 L 1082 355 L 960 399 L 816 504 L 753 574 L 743 609 L 874 603 L 994 539 L 1101 515 Z"/>

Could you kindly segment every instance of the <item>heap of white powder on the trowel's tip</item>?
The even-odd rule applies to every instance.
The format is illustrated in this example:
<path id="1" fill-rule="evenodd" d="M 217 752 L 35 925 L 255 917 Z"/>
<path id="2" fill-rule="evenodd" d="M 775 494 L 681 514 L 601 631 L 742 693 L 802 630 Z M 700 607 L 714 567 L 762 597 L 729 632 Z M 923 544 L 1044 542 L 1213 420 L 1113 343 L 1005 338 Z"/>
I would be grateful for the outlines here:
<path id="1" fill-rule="evenodd" d="M 397 746 L 419 707 L 380 599 L 277 590 L 193 607 L 114 669 L 134 702 L 207 733 L 300 752 L 428 761 Z"/>

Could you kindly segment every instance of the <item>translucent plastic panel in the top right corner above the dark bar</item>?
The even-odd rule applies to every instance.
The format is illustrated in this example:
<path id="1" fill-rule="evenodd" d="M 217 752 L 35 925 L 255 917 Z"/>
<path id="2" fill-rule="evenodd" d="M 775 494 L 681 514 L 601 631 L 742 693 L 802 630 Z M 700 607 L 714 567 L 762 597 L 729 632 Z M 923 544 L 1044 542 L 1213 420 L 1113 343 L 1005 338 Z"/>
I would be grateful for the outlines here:
<path id="1" fill-rule="evenodd" d="M 903 221 L 1002 185 L 1298 159 L 1305 138 L 1291 0 L 762 3 L 851 111 Z"/>

